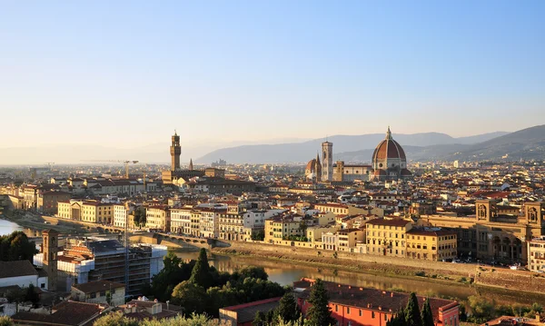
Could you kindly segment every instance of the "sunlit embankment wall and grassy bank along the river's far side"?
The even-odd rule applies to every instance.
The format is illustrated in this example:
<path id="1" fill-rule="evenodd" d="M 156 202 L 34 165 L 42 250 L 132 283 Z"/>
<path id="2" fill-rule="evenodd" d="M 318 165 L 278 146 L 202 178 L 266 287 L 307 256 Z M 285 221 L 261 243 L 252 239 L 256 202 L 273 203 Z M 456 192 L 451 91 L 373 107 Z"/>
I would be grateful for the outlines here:
<path id="1" fill-rule="evenodd" d="M 365 272 L 397 278 L 425 279 L 460 286 L 487 287 L 497 291 L 525 291 L 542 294 L 545 278 L 530 272 L 480 267 L 474 264 L 428 262 L 349 252 L 319 252 L 312 249 L 275 246 L 258 242 L 232 242 L 229 248 L 212 252 L 267 260 L 303 263 L 347 272 Z M 545 298 L 544 298 L 545 299 Z"/>

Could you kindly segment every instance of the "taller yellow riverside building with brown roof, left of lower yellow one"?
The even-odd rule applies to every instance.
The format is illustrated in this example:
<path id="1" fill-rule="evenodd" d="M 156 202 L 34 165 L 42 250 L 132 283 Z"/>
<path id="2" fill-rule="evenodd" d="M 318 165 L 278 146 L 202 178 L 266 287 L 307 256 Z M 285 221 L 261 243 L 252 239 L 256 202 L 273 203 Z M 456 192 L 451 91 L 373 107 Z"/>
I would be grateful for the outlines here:
<path id="1" fill-rule="evenodd" d="M 400 218 L 374 219 L 366 224 L 367 253 L 381 256 L 405 257 L 406 233 L 412 223 Z"/>

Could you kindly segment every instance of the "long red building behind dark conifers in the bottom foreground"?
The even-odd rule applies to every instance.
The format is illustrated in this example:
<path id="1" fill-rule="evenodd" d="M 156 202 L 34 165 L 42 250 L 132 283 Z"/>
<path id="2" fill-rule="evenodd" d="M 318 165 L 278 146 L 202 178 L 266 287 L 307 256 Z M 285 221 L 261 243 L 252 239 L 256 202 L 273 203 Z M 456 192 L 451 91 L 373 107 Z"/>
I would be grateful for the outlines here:
<path id="1" fill-rule="evenodd" d="M 302 279 L 293 282 L 296 291 L 301 291 L 298 305 L 303 315 L 309 309 L 312 285 L 315 280 Z M 357 286 L 324 282 L 330 297 L 332 317 L 339 326 L 384 326 L 400 308 L 409 301 L 408 293 L 381 291 Z M 417 296 L 419 306 L 430 300 L 433 320 L 437 326 L 458 326 L 459 304 L 457 301 L 424 298 Z"/>

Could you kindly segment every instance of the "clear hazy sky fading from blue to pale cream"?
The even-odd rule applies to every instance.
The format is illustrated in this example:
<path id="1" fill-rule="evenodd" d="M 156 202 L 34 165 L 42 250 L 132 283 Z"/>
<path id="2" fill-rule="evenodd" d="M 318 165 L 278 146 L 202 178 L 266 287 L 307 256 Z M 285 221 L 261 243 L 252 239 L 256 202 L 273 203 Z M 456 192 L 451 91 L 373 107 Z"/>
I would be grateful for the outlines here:
<path id="1" fill-rule="evenodd" d="M 0 147 L 545 123 L 545 1 L 2 1 Z"/>

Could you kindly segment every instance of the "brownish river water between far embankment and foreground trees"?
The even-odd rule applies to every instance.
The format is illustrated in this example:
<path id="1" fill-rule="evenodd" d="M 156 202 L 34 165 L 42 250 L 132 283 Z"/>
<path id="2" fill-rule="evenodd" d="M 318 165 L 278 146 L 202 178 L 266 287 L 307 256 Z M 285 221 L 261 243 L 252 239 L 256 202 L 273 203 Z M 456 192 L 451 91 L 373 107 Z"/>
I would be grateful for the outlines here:
<path id="1" fill-rule="evenodd" d="M 197 259 L 198 252 L 176 252 L 184 261 Z M 493 298 L 498 304 L 545 303 L 545 294 L 520 293 L 502 289 L 475 287 L 451 282 L 431 282 L 417 279 L 405 279 L 363 272 L 335 271 L 332 268 L 313 268 L 292 262 L 273 261 L 256 257 L 227 256 L 211 254 L 210 263 L 221 272 L 233 272 L 245 266 L 260 266 L 269 274 L 269 280 L 282 285 L 291 285 L 302 277 L 321 278 L 324 281 L 339 282 L 355 286 L 369 287 L 390 291 L 414 291 L 421 295 L 467 300 L 471 295 L 484 295 Z"/>

